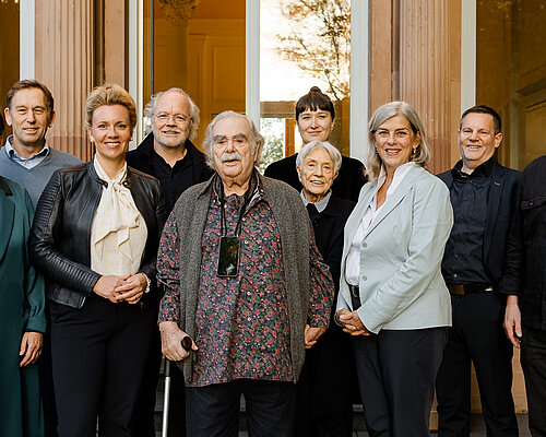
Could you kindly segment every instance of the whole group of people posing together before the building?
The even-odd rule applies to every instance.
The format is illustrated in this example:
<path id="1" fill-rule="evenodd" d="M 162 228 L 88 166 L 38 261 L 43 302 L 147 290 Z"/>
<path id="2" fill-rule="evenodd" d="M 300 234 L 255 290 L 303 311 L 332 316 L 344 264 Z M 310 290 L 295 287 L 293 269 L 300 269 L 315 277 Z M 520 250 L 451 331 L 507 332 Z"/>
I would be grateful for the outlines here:
<path id="1" fill-rule="evenodd" d="M 0 435 L 154 436 L 163 354 L 173 437 L 237 436 L 241 395 L 250 436 L 352 436 L 355 397 L 370 436 L 428 436 L 435 390 L 439 436 L 468 436 L 471 362 L 488 435 L 517 436 L 512 344 L 546 435 L 546 157 L 501 166 L 492 108 L 463 113 L 461 161 L 436 177 L 404 102 L 375 111 L 364 167 L 312 87 L 301 150 L 264 175 L 252 119 L 218 114 L 201 152 L 180 88 L 152 96 L 130 152 L 134 102 L 93 90 L 83 164 L 46 143 L 45 85 L 7 104 Z"/>

